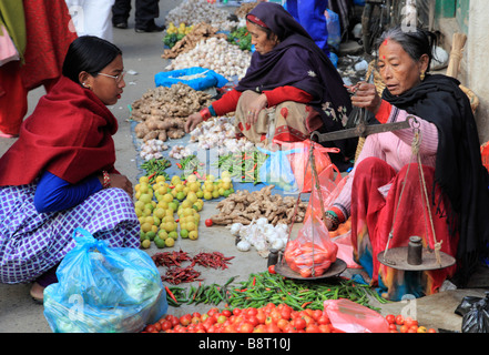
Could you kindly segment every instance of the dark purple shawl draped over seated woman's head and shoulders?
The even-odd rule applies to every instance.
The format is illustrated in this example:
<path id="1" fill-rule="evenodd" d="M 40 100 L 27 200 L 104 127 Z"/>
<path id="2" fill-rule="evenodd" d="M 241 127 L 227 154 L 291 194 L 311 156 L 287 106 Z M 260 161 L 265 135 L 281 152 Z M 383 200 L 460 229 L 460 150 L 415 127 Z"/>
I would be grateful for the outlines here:
<path id="1" fill-rule="evenodd" d="M 264 55 L 253 54 L 236 90 L 263 92 L 291 85 L 312 94 L 312 105 L 320 108 L 329 102 L 335 109 L 346 108 L 348 114 L 352 102 L 342 77 L 300 23 L 273 2 L 261 2 L 249 13 L 261 19 L 281 42 Z"/>

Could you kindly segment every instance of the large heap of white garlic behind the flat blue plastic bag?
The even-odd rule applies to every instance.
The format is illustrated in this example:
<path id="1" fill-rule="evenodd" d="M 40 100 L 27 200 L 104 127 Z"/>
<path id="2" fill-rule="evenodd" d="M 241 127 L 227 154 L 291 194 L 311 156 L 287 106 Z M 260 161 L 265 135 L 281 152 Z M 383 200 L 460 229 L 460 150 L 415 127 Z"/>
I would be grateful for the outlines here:
<path id="1" fill-rule="evenodd" d="M 234 77 L 241 80 L 246 74 L 251 60 L 252 55 L 248 51 L 242 51 L 224 38 L 213 37 L 202 40 L 189 52 L 179 54 L 166 70 L 201 67 L 214 70 L 233 81 Z"/>

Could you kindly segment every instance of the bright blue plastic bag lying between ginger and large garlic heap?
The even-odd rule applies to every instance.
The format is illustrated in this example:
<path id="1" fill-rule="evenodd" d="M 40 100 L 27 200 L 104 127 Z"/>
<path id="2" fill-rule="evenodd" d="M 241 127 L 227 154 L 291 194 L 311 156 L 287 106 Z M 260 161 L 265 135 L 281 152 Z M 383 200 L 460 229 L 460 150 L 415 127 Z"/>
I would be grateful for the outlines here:
<path id="1" fill-rule="evenodd" d="M 211 69 L 192 67 L 172 71 L 163 71 L 154 75 L 156 87 L 170 88 L 176 83 L 184 83 L 194 90 L 222 88 L 227 79 Z"/>

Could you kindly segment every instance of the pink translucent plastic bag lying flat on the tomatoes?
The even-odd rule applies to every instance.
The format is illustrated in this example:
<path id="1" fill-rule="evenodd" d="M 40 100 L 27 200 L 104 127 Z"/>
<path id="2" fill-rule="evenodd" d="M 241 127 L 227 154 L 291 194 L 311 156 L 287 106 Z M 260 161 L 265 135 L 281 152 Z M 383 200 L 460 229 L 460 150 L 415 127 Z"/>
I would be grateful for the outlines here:
<path id="1" fill-rule="evenodd" d="M 381 314 L 346 298 L 325 301 L 324 312 L 332 326 L 344 333 L 389 333 Z"/>

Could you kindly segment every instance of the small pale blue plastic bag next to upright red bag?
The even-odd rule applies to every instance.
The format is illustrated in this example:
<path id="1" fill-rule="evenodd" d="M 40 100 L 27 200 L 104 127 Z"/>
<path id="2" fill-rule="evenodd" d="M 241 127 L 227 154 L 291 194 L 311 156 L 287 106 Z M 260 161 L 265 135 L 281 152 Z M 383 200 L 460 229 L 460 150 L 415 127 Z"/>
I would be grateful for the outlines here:
<path id="1" fill-rule="evenodd" d="M 299 190 L 292 171 L 291 162 L 287 155 L 299 153 L 300 150 L 277 150 L 275 152 L 256 146 L 262 153 L 268 154 L 269 158 L 259 168 L 259 181 L 265 185 L 275 185 L 275 187 L 286 192 L 297 192 Z"/>

